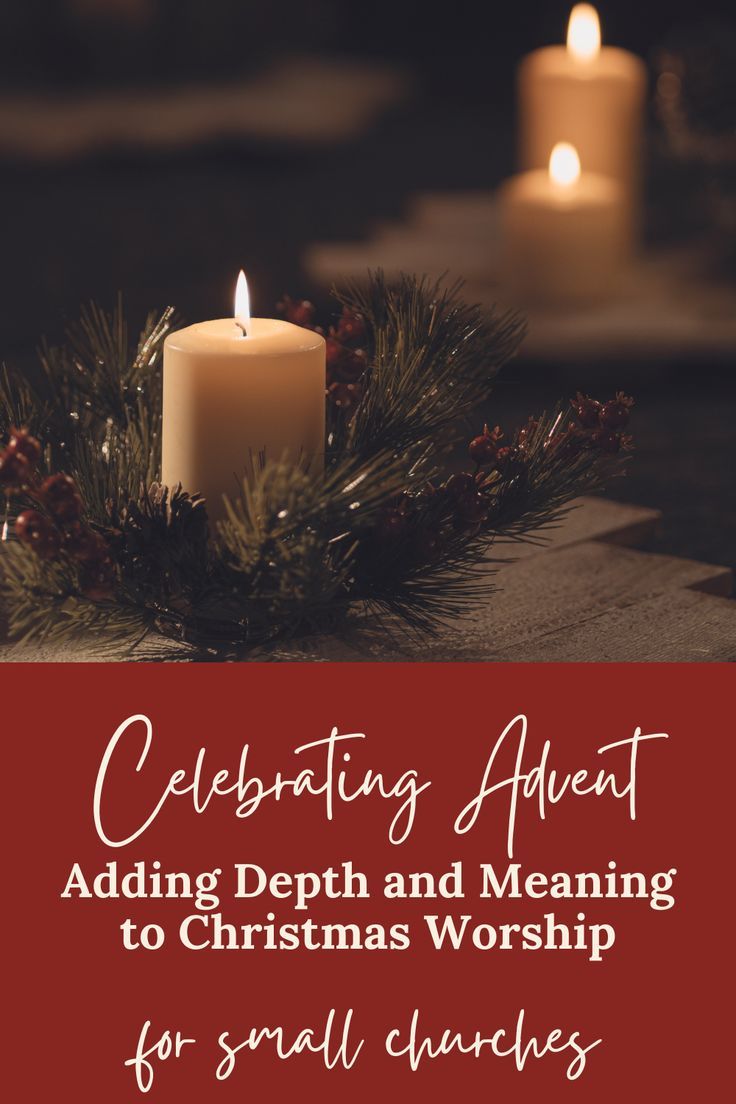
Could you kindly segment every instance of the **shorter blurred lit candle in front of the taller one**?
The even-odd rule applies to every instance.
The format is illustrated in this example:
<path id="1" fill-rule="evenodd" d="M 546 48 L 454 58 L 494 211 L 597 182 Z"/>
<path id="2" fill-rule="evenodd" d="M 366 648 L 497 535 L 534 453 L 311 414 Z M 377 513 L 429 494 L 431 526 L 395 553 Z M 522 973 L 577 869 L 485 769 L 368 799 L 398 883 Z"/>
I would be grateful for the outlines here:
<path id="1" fill-rule="evenodd" d="M 546 169 L 512 177 L 500 191 L 503 277 L 520 306 L 579 306 L 616 291 L 625 247 L 619 184 L 582 172 L 558 142 Z"/>

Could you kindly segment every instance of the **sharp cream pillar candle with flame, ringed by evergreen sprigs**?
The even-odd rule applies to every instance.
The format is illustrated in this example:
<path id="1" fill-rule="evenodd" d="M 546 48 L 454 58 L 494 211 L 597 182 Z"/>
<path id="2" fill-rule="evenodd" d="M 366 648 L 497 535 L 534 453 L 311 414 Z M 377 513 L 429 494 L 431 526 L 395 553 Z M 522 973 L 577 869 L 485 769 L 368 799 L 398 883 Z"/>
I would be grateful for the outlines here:
<path id="1" fill-rule="evenodd" d="M 235 317 L 198 322 L 163 347 L 162 481 L 203 495 L 211 519 L 266 460 L 310 473 L 324 456 L 324 338 L 250 318 L 241 273 Z"/>

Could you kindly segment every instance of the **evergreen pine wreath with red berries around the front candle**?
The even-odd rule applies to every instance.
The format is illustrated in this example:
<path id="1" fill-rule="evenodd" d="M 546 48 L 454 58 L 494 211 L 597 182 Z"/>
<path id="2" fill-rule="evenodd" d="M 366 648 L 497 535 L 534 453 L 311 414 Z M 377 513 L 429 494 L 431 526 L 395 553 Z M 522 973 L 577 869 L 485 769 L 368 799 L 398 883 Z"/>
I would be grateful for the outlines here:
<path id="1" fill-rule="evenodd" d="M 510 438 L 486 426 L 470 469 L 447 477 L 523 321 L 413 276 L 390 285 L 377 272 L 334 295 L 323 476 L 267 461 L 214 528 L 196 488 L 159 482 L 173 309 L 150 315 L 131 346 L 121 304 L 93 305 L 64 346 L 42 347 L 39 386 L 3 369 L 11 638 L 84 634 L 134 656 L 228 658 L 360 615 L 436 631 L 492 588 L 494 541 L 543 539 L 576 496 L 620 473 L 631 447 L 621 393 L 604 404 L 578 394 Z M 310 304 L 280 306 L 317 328 Z"/>

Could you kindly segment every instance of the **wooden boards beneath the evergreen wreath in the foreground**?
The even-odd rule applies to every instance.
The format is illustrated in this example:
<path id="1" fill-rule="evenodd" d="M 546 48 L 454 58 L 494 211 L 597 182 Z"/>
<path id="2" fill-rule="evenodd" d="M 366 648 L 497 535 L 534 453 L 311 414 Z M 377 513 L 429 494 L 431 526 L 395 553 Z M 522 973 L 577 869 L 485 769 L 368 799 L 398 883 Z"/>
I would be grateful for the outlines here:
<path id="1" fill-rule="evenodd" d="M 655 510 L 580 499 L 544 544 L 497 545 L 509 556 L 497 593 L 435 637 L 386 639 L 370 627 L 310 638 L 253 658 L 297 661 L 668 661 L 736 660 L 736 602 L 727 567 L 638 551 Z M 513 558 L 513 560 L 511 559 Z M 497 565 L 498 566 L 498 565 Z M 8 662 L 126 658 L 100 641 L 0 646 Z M 145 658 L 141 656 L 141 658 Z"/>

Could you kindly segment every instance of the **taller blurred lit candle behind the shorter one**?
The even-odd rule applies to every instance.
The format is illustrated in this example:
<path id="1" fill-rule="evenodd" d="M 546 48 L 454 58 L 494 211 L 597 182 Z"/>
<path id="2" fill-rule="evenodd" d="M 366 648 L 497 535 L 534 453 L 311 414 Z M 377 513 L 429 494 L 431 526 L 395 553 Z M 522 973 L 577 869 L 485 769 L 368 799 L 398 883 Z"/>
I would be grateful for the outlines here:
<path id="1" fill-rule="evenodd" d="M 630 222 L 639 204 L 640 146 L 647 71 L 626 50 L 600 45 L 596 9 L 573 8 L 566 46 L 545 46 L 519 68 L 522 169 L 541 169 L 565 137 L 586 172 L 621 184 Z"/>

